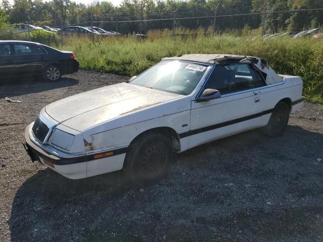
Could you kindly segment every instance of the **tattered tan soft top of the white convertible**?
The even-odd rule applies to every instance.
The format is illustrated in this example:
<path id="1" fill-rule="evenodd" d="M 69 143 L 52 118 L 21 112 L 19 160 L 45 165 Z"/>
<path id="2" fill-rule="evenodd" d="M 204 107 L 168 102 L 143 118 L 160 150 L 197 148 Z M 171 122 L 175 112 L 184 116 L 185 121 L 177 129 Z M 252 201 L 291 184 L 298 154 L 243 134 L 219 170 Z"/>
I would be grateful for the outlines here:
<path id="1" fill-rule="evenodd" d="M 249 63 L 253 64 L 259 71 L 264 73 L 267 85 L 280 83 L 283 78 L 279 76 L 264 59 L 254 56 L 234 55 L 234 54 L 183 54 L 174 57 L 165 57 L 163 61 L 189 61 L 205 64 L 228 64 L 228 63 Z"/>

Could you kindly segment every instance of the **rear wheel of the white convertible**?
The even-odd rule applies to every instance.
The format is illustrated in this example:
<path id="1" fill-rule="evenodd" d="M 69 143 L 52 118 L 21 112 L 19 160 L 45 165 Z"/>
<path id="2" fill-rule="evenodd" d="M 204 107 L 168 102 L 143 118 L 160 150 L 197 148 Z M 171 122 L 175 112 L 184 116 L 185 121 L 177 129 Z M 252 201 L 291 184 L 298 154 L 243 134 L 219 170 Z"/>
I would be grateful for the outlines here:
<path id="1" fill-rule="evenodd" d="M 261 133 L 270 137 L 282 136 L 287 128 L 289 113 L 290 108 L 286 102 L 277 103 L 268 124 L 261 128 Z"/>

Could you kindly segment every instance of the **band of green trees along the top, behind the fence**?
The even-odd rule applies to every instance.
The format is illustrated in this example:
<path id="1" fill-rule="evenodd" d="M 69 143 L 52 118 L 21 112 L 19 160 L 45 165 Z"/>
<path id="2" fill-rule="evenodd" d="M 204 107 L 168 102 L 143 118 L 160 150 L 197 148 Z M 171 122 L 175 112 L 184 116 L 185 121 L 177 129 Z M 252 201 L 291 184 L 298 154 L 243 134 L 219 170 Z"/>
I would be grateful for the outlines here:
<path id="1" fill-rule="evenodd" d="M 174 16 L 177 27 L 196 29 L 212 26 L 217 6 L 218 30 L 241 30 L 244 26 L 258 29 L 261 27 L 261 12 L 264 7 L 267 12 L 265 27 L 268 32 L 278 32 L 281 29 L 300 31 L 323 26 L 323 18 L 319 18 L 321 12 L 281 12 L 322 8 L 323 0 L 123 0 L 118 7 L 109 2 L 98 1 L 86 6 L 77 4 L 74 0 L 14 0 L 11 7 L 10 0 L 1 1 L 11 23 L 51 23 L 52 26 L 65 26 L 90 22 L 92 17 L 93 21 L 102 22 L 95 25 L 107 30 L 115 30 L 115 21 L 118 20 L 118 31 L 124 33 L 139 32 L 140 26 L 143 33 L 149 29 L 171 29 Z M 248 15 L 250 13 L 256 14 Z M 140 25 L 140 19 L 167 20 L 143 21 Z M 133 20 L 138 22 L 130 22 Z"/>

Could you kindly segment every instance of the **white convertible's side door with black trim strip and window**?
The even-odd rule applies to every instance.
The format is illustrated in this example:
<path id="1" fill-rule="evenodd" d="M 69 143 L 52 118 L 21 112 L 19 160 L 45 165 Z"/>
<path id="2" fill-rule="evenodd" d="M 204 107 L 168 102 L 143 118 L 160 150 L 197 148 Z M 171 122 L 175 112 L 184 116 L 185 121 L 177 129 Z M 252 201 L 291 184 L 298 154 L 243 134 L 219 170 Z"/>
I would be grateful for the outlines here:
<path id="1" fill-rule="evenodd" d="M 264 86 L 262 77 L 249 64 L 216 66 L 202 91 L 217 89 L 221 97 L 192 100 L 189 148 L 264 126 L 259 91 Z"/>

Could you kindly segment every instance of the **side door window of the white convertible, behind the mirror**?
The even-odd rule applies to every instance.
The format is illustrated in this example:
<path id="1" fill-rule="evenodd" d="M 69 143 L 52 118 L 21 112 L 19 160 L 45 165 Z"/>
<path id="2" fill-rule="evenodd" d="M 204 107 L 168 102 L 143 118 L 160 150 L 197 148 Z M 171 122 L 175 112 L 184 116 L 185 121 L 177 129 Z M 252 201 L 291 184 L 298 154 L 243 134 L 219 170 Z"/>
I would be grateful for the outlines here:
<path id="1" fill-rule="evenodd" d="M 249 64 L 236 63 L 216 66 L 204 89 L 216 89 L 221 94 L 227 94 L 265 85 L 260 74 Z"/>

